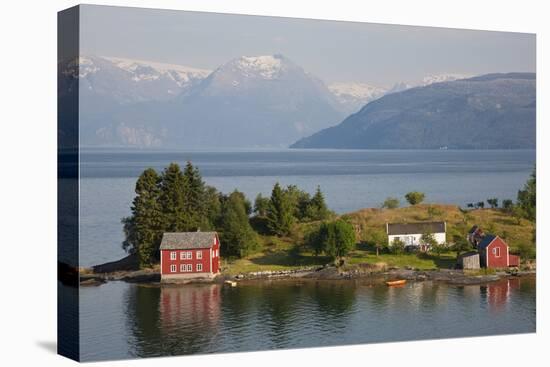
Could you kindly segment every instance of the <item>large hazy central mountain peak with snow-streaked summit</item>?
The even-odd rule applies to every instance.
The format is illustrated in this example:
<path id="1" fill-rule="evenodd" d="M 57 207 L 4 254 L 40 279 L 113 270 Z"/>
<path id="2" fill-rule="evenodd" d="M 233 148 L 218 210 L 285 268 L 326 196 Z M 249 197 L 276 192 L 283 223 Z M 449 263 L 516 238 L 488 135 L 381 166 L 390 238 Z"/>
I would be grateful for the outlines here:
<path id="1" fill-rule="evenodd" d="M 345 117 L 325 84 L 283 55 L 230 60 L 179 100 L 187 146 L 283 147 Z"/>

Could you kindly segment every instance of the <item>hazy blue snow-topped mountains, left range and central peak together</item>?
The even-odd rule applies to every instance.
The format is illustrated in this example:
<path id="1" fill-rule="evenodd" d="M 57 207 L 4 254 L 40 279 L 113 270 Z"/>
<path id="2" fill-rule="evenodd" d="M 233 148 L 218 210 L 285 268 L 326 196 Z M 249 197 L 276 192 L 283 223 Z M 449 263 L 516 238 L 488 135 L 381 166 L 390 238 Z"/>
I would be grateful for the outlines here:
<path id="1" fill-rule="evenodd" d="M 83 145 L 284 147 L 346 116 L 320 79 L 282 55 L 212 72 L 97 56 L 79 66 L 63 75 L 79 74 Z"/>

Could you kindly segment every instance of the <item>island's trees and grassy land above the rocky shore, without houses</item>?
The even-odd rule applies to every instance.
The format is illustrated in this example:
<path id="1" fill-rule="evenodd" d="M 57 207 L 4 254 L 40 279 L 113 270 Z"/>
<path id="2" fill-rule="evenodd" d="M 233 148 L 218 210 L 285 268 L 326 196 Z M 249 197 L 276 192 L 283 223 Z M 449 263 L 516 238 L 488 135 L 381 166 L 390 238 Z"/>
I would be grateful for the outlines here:
<path id="1" fill-rule="evenodd" d="M 310 194 L 276 183 L 270 197 L 258 194 L 252 203 L 237 190 L 225 194 L 206 185 L 191 162 L 183 170 L 172 163 L 161 173 L 149 168 L 139 176 L 131 215 L 122 219 L 122 246 L 137 258 L 139 268 L 155 269 L 164 232 L 216 231 L 222 273 L 228 275 L 326 264 L 440 269 L 455 266 L 457 257 L 468 251 L 468 230 L 479 225 L 498 233 L 510 253 L 529 263 L 536 257 L 535 180 L 533 172 L 516 200 L 489 198 L 461 208 L 424 204 L 425 194 L 412 191 L 404 197 L 407 206 L 390 197 L 379 208 L 337 215 L 327 207 L 320 187 Z M 388 222 L 435 220 L 447 224 L 445 246 L 434 243 L 428 252 L 408 252 L 388 243 Z"/>

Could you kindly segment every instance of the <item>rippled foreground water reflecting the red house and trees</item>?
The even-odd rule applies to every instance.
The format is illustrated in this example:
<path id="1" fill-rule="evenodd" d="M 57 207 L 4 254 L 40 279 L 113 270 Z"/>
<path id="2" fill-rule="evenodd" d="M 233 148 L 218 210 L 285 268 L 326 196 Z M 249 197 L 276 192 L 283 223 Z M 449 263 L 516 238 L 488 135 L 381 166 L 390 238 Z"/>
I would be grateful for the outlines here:
<path id="1" fill-rule="evenodd" d="M 487 285 L 258 281 L 80 289 L 82 360 L 535 332 L 534 278 Z"/>

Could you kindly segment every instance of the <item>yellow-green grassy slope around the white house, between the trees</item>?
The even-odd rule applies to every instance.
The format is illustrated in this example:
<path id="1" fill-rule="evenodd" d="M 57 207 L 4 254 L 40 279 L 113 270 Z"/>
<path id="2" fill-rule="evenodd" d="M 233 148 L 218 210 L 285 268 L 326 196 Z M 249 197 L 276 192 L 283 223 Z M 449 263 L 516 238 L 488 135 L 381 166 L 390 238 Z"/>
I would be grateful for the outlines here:
<path id="1" fill-rule="evenodd" d="M 429 209 L 431 207 L 431 209 Z M 449 268 L 455 263 L 456 254 L 444 253 L 441 257 L 435 255 L 394 255 L 381 253 L 376 256 L 374 249 L 367 245 L 369 233 L 385 231 L 386 222 L 418 222 L 443 220 L 447 222 L 447 233 L 466 235 L 474 224 L 480 225 L 486 232 L 498 234 L 511 246 L 512 251 L 522 242 L 533 243 L 534 224 L 527 220 L 519 222 L 510 214 L 495 209 L 476 209 L 463 213 L 453 205 L 416 205 L 398 209 L 363 209 L 345 214 L 354 224 L 358 244 L 348 257 L 351 265 L 360 263 L 385 263 L 388 266 L 418 269 Z M 315 223 L 296 225 L 291 236 L 277 238 L 261 236 L 263 250 L 246 259 L 226 260 L 224 272 L 238 274 L 242 272 L 263 270 L 288 270 L 304 266 L 323 265 L 330 261 L 327 257 L 314 256 L 301 246 L 303 234 Z"/>

